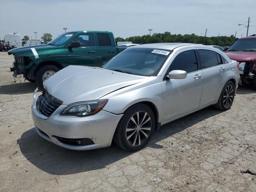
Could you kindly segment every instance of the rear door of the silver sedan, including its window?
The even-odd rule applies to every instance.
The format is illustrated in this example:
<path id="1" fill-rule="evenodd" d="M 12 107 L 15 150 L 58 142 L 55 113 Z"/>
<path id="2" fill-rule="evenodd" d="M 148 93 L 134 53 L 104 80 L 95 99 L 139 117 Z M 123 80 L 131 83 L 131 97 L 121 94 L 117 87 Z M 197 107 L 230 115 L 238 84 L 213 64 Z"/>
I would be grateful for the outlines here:
<path id="1" fill-rule="evenodd" d="M 198 48 L 198 56 L 204 74 L 202 98 L 200 107 L 218 101 L 220 92 L 226 83 L 226 77 L 231 72 L 229 63 L 222 61 L 218 52 L 207 48 Z"/>

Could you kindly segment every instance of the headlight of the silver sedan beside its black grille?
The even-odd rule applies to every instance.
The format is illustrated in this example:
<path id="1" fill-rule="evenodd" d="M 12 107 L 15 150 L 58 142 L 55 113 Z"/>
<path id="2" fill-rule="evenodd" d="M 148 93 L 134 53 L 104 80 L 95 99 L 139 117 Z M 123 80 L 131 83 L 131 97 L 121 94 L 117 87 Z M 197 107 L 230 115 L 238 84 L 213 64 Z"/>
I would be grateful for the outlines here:
<path id="1" fill-rule="evenodd" d="M 108 100 L 94 100 L 70 104 L 60 112 L 60 115 L 72 115 L 78 117 L 94 115 L 100 112 L 107 102 Z"/>

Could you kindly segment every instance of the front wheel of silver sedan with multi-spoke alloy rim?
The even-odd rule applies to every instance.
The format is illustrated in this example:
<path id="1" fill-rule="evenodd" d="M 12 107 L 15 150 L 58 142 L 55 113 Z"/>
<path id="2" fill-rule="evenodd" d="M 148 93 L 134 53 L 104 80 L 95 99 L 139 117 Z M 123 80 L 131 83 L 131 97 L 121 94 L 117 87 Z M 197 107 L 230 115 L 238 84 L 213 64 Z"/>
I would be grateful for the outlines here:
<path id="1" fill-rule="evenodd" d="M 139 118 L 137 118 L 137 114 L 139 114 Z M 139 123 L 137 123 L 138 119 Z M 135 104 L 124 112 L 113 139 L 120 148 L 137 151 L 148 143 L 154 129 L 155 116 L 150 107 L 145 104 Z"/>

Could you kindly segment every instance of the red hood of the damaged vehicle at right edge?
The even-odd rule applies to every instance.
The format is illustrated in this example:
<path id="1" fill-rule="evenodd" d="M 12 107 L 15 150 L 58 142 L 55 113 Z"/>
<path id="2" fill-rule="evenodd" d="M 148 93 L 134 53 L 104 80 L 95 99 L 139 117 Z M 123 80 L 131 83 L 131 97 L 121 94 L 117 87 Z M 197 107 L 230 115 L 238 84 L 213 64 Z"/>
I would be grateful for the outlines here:
<path id="1" fill-rule="evenodd" d="M 230 59 L 240 61 L 250 61 L 256 58 L 256 52 L 252 51 L 226 51 L 224 52 Z"/>

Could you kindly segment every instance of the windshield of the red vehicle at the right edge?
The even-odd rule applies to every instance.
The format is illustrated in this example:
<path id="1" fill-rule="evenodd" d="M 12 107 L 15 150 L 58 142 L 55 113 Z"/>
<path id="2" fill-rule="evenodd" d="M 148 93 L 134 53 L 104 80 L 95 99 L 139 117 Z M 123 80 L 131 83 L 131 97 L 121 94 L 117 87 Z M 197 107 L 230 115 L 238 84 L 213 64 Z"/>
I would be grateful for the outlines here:
<path id="1" fill-rule="evenodd" d="M 227 51 L 256 51 L 256 38 L 238 39 Z"/>

